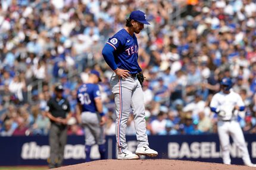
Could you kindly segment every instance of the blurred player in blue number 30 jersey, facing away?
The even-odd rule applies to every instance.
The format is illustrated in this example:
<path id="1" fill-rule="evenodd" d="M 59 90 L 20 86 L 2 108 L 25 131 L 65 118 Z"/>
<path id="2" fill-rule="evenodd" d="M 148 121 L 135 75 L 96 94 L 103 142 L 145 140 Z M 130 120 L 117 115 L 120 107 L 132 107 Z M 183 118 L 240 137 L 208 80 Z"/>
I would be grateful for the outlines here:
<path id="1" fill-rule="evenodd" d="M 105 116 L 102 112 L 99 81 L 99 72 L 91 70 L 88 82 L 77 89 L 77 120 L 85 128 L 86 162 L 90 161 L 90 149 L 95 144 L 99 146 L 101 159 L 105 158 L 105 137 L 102 127 L 105 124 Z"/>

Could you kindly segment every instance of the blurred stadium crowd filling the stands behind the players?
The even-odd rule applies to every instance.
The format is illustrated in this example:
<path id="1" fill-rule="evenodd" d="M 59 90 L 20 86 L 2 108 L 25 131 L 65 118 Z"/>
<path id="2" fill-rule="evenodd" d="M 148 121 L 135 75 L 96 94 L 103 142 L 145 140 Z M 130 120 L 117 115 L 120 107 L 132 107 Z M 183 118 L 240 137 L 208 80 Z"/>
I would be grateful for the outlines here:
<path id="1" fill-rule="evenodd" d="M 57 82 L 75 120 L 76 89 L 91 69 L 104 77 L 105 133 L 115 134 L 113 71 L 101 49 L 134 9 L 151 22 L 138 35 L 148 134 L 217 133 L 209 104 L 224 76 L 246 104 L 243 132 L 256 133 L 255 0 L 7 0 L 0 3 L 0 136 L 48 134 L 46 102 Z M 135 134 L 132 120 L 126 134 Z M 70 121 L 68 134 L 83 133 Z"/>

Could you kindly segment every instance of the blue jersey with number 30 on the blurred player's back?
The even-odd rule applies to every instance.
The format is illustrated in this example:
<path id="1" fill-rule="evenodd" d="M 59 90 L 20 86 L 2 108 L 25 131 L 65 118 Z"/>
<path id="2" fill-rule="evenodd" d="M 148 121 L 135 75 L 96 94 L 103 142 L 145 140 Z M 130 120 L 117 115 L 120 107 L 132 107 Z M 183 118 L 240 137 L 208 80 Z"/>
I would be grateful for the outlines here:
<path id="1" fill-rule="evenodd" d="M 77 89 L 77 102 L 82 105 L 82 112 L 90 111 L 96 113 L 98 110 L 95 98 L 100 98 L 101 92 L 96 84 L 83 84 Z"/>

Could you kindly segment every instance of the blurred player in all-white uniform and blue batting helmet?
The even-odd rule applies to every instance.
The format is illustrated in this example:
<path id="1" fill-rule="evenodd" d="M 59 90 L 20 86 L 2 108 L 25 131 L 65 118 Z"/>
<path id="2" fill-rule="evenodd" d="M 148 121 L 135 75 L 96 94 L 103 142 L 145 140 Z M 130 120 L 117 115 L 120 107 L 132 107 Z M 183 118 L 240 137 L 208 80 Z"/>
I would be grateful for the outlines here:
<path id="1" fill-rule="evenodd" d="M 238 111 L 245 110 L 245 104 L 241 96 L 232 91 L 232 85 L 230 78 L 223 78 L 220 82 L 221 91 L 213 96 L 210 104 L 211 111 L 218 114 L 217 129 L 223 163 L 231 163 L 229 153 L 230 134 L 236 146 L 242 151 L 242 159 L 245 165 L 256 167 L 255 164 L 251 163 L 245 138 L 237 121 Z"/>

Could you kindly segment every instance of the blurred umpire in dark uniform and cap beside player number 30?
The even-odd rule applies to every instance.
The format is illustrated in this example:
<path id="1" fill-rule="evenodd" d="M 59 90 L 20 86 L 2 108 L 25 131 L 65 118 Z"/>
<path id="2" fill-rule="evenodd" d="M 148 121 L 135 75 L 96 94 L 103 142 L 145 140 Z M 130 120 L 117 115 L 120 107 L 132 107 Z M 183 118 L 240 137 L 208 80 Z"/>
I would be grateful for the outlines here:
<path id="1" fill-rule="evenodd" d="M 67 143 L 67 121 L 71 117 L 70 104 L 63 97 L 63 86 L 55 86 L 55 95 L 47 105 L 46 115 L 51 120 L 49 130 L 50 158 L 49 168 L 60 167 L 64 158 L 64 147 Z"/>

